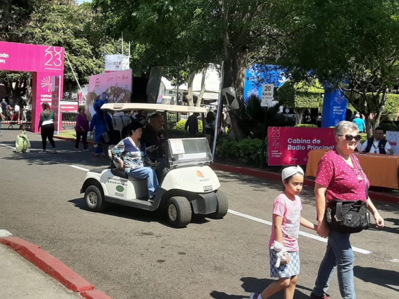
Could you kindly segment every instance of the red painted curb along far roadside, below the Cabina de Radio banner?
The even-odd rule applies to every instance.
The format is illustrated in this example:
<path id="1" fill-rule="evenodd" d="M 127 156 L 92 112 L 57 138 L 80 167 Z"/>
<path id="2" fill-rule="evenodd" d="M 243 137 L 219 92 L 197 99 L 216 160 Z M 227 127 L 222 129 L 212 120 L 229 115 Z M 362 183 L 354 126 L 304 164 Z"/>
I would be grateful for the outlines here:
<path id="1" fill-rule="evenodd" d="M 270 172 L 266 170 L 254 169 L 249 167 L 231 166 L 220 163 L 211 163 L 210 166 L 215 170 L 241 173 L 245 175 L 251 175 L 270 180 L 278 180 L 278 181 L 281 180 L 281 175 L 279 173 Z M 305 178 L 304 184 L 313 187 L 315 185 L 315 181 L 313 179 Z M 396 195 L 391 195 L 376 191 L 370 191 L 369 195 L 373 200 L 379 200 L 390 203 L 399 203 L 399 196 Z"/>

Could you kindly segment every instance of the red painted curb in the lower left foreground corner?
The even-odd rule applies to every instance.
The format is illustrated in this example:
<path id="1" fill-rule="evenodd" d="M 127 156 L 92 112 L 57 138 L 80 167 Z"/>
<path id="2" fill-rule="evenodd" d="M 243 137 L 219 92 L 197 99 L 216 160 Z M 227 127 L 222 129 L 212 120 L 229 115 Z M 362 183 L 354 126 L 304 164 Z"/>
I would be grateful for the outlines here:
<path id="1" fill-rule="evenodd" d="M 40 270 L 59 281 L 69 290 L 79 292 L 84 298 L 111 299 L 99 290 L 93 292 L 94 286 L 92 284 L 39 246 L 17 237 L 0 238 L 0 243 L 15 250 Z M 86 293 L 88 297 L 85 297 L 84 294 Z"/>

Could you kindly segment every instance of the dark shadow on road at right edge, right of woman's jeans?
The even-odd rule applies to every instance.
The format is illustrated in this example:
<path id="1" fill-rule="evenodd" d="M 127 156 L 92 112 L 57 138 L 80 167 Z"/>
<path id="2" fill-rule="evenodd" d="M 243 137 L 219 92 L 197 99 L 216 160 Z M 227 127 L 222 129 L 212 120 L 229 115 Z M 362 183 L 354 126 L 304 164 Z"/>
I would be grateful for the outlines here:
<path id="1" fill-rule="evenodd" d="M 353 270 L 355 277 L 366 283 L 399 292 L 399 273 L 396 271 L 361 266 L 355 266 Z"/>

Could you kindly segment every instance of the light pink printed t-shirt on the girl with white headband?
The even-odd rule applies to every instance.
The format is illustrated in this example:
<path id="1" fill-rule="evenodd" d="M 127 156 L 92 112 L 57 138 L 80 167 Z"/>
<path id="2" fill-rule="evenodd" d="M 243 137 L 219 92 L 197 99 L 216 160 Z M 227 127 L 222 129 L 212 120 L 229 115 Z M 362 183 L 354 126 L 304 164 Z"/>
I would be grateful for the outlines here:
<path id="1" fill-rule="evenodd" d="M 283 233 L 283 243 L 288 251 L 299 251 L 298 235 L 301 223 L 302 203 L 301 198 L 295 195 L 295 200 L 289 199 L 284 193 L 276 197 L 273 204 L 273 214 L 283 218 L 281 230 Z M 276 240 L 274 223 L 271 230 L 269 247 Z"/>

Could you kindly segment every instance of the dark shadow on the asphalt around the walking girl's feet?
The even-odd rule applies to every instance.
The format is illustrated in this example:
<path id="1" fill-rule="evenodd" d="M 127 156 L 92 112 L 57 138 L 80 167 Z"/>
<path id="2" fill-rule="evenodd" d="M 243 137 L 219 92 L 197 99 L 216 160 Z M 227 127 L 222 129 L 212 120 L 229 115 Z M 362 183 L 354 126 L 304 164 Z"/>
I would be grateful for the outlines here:
<path id="1" fill-rule="evenodd" d="M 211 298 L 214 299 L 241 299 L 241 298 L 249 298 L 249 293 L 255 292 L 260 293 L 262 292 L 268 285 L 270 285 L 275 280 L 273 279 L 258 279 L 254 277 L 243 277 L 241 278 L 242 281 L 242 289 L 245 293 L 248 293 L 247 296 L 242 295 L 229 295 L 222 292 L 212 291 L 210 293 Z M 304 292 L 304 293 L 303 293 Z M 309 299 L 309 295 L 312 292 L 312 289 L 303 287 L 301 285 L 296 285 L 295 290 L 295 299 Z M 283 299 L 284 292 L 281 291 L 272 297 L 273 299 Z"/>

